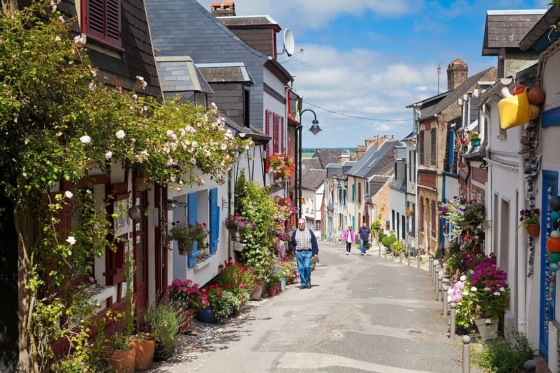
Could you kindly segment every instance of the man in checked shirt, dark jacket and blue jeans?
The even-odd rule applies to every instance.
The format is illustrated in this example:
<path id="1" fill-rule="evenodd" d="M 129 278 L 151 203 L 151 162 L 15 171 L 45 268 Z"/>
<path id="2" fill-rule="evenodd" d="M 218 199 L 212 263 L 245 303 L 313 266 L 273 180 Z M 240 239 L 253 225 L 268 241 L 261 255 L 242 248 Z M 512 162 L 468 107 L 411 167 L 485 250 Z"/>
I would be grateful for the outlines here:
<path id="1" fill-rule="evenodd" d="M 300 289 L 311 288 L 311 257 L 317 258 L 319 246 L 315 234 L 305 229 L 305 219 L 297 221 L 297 229 L 292 233 L 292 249 L 296 250 L 297 268 L 300 270 Z"/>

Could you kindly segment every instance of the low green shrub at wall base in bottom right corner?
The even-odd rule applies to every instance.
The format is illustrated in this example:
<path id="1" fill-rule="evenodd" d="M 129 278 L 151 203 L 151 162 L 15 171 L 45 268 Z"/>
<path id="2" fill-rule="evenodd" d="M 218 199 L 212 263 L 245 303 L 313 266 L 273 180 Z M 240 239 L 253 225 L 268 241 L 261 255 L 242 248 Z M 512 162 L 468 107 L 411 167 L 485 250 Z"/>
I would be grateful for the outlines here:
<path id="1" fill-rule="evenodd" d="M 491 373 L 524 372 L 523 363 L 533 358 L 533 349 L 521 332 L 506 333 L 484 343 L 474 343 L 472 361 L 480 369 Z"/>

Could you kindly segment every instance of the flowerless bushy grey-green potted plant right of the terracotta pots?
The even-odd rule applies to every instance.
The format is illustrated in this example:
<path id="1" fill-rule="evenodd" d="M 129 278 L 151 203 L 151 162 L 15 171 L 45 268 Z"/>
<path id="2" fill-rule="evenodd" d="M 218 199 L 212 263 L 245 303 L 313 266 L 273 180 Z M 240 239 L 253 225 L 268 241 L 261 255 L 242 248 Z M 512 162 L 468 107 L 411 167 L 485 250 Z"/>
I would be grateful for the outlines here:
<path id="1" fill-rule="evenodd" d="M 153 361 L 164 361 L 175 351 L 179 327 L 184 323 L 181 308 L 167 298 L 152 302 L 143 313 L 144 325 L 156 341 Z"/>

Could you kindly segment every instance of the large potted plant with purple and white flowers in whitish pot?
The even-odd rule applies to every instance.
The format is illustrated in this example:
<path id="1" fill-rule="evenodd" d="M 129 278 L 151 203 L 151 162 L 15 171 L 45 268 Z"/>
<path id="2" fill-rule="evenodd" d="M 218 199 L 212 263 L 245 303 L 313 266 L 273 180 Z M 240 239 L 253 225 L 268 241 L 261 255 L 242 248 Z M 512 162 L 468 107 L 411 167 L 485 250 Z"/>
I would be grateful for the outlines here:
<path id="1" fill-rule="evenodd" d="M 476 325 L 482 339 L 496 338 L 498 319 L 510 302 L 507 273 L 497 267 L 494 254 L 476 259 L 475 263 L 451 292 L 451 301 L 457 304 L 456 323 L 464 327 Z"/>

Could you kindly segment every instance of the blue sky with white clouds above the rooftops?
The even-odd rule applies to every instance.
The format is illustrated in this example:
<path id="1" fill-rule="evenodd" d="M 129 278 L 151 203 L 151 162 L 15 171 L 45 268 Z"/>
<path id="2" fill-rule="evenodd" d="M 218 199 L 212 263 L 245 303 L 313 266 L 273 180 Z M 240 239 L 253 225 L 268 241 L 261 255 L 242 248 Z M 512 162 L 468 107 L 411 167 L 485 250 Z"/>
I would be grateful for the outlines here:
<path id="1" fill-rule="evenodd" d="M 212 0 L 198 0 L 206 9 Z M 302 115 L 302 146 L 356 147 L 367 137 L 412 131 L 405 106 L 447 90 L 447 65 L 461 58 L 469 76 L 491 66 L 482 57 L 487 10 L 547 9 L 550 0 L 236 0 L 238 16 L 269 15 L 292 30 L 296 53 L 278 55 L 303 96 L 303 109 L 317 114 L 322 132 L 313 135 L 312 113 Z M 288 60 L 291 59 L 291 60 Z M 349 118 L 338 113 L 375 120 Z M 379 119 L 403 120 L 399 122 Z"/>

